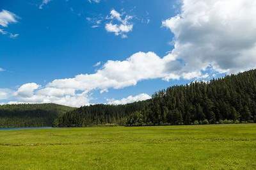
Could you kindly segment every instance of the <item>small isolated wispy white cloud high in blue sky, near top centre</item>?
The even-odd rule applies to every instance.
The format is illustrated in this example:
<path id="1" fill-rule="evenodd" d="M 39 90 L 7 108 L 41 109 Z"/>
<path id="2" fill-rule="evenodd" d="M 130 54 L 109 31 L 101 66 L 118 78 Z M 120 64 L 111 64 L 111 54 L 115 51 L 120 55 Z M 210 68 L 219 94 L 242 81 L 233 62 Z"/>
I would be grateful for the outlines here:
<path id="1" fill-rule="evenodd" d="M 110 33 L 115 33 L 116 36 L 121 35 L 122 38 L 127 38 L 127 33 L 132 31 L 133 27 L 133 24 L 129 22 L 132 16 L 125 15 L 124 19 L 122 17 L 123 14 L 118 13 L 116 10 L 111 10 L 110 17 L 107 17 L 111 21 L 106 23 L 105 29 Z"/>

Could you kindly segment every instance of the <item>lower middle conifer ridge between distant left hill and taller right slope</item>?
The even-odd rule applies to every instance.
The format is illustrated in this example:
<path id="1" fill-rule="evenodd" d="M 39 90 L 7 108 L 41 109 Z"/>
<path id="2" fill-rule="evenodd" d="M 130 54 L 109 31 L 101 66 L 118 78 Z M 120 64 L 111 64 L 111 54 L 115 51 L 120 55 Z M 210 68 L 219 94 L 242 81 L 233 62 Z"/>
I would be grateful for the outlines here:
<path id="1" fill-rule="evenodd" d="M 90 125 L 126 125 L 134 112 L 147 108 L 150 100 L 125 105 L 90 105 L 67 112 L 55 121 L 57 127 L 86 127 Z"/>

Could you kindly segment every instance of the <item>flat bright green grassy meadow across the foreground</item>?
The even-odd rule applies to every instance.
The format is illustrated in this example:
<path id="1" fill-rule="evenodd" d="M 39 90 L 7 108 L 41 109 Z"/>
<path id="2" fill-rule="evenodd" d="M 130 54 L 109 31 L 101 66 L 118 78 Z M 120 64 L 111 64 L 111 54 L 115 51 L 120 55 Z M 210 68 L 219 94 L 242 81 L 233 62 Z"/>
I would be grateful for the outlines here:
<path id="1" fill-rule="evenodd" d="M 0 169 L 256 169 L 256 124 L 0 130 Z"/>

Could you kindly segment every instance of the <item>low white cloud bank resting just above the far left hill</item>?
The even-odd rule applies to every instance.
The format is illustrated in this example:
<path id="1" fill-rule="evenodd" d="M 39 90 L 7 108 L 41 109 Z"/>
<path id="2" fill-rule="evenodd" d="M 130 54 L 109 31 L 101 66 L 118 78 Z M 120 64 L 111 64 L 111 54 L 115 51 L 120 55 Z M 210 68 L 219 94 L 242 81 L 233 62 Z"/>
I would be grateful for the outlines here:
<path id="1" fill-rule="evenodd" d="M 90 97 L 86 92 L 76 93 L 76 89 L 40 87 L 40 85 L 32 82 L 23 84 L 17 91 L 12 93 L 10 93 L 10 89 L 0 89 L 0 100 L 7 99 L 6 95 L 8 95 L 8 98 L 15 99 L 8 102 L 8 104 L 54 103 L 72 107 L 87 105 L 90 102 Z"/>

